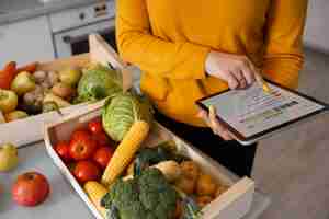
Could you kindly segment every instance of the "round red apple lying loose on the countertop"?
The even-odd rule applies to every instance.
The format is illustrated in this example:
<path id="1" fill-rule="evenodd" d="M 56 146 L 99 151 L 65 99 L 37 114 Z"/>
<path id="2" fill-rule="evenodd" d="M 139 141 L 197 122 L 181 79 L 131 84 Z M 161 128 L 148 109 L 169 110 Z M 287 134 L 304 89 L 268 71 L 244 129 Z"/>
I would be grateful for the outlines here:
<path id="1" fill-rule="evenodd" d="M 11 189 L 13 200 L 26 207 L 42 204 L 48 197 L 49 192 L 47 178 L 37 172 L 20 175 Z"/>

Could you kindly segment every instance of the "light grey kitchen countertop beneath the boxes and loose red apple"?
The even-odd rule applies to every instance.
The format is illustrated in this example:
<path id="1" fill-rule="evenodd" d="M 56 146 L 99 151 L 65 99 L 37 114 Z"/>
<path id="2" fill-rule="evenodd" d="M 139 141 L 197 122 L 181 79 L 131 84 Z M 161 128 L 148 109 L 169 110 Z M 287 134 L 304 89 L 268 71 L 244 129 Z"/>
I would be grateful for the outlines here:
<path id="1" fill-rule="evenodd" d="M 19 150 L 20 165 L 11 173 L 0 173 L 0 215 L 1 219 L 93 219 L 87 206 L 76 194 L 70 184 L 60 174 L 47 155 L 44 142 L 38 142 Z M 11 200 L 10 185 L 19 174 L 27 171 L 43 173 L 49 181 L 50 195 L 38 207 L 24 208 Z M 270 200 L 257 192 L 251 211 L 243 219 L 257 219 L 266 209 Z"/>

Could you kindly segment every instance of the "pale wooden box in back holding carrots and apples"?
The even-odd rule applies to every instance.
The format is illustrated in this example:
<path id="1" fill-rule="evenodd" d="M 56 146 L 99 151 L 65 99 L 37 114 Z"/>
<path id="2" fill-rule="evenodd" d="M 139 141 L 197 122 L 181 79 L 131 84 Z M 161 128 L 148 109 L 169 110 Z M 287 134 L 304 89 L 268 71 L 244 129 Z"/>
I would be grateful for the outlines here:
<path id="1" fill-rule="evenodd" d="M 58 59 L 50 62 L 39 64 L 37 71 L 60 71 L 65 68 L 83 68 L 89 64 L 102 64 L 120 69 L 123 78 L 123 88 L 128 89 L 132 85 L 132 78 L 126 73 L 126 65 L 121 61 L 115 50 L 105 43 L 100 35 L 90 35 L 90 53 L 70 58 Z M 69 115 L 75 111 L 88 108 L 89 103 L 81 103 L 60 108 L 61 114 L 56 111 L 30 116 L 23 119 L 10 123 L 0 123 L 0 145 L 11 142 L 18 147 L 36 142 L 43 139 L 43 125 L 59 119 L 61 116 Z M 0 115 L 0 122 L 1 119 Z"/>

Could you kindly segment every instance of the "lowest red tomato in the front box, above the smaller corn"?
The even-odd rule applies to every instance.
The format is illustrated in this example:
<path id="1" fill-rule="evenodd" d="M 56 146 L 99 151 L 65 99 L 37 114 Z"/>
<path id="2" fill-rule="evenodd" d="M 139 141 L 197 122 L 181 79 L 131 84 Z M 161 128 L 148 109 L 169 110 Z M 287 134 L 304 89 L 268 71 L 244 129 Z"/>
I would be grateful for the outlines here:
<path id="1" fill-rule="evenodd" d="M 101 176 L 101 171 L 92 161 L 79 161 L 75 168 L 75 176 L 80 183 L 97 181 Z"/>

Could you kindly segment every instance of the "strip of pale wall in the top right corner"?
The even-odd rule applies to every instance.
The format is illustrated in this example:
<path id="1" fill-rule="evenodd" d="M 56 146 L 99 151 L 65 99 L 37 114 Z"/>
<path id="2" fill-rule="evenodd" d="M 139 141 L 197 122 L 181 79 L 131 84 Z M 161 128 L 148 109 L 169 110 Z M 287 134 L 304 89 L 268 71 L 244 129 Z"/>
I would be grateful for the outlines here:
<path id="1" fill-rule="evenodd" d="M 329 0 L 308 0 L 306 46 L 329 53 Z"/>

